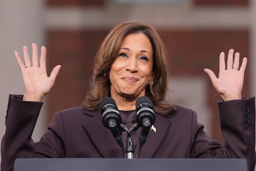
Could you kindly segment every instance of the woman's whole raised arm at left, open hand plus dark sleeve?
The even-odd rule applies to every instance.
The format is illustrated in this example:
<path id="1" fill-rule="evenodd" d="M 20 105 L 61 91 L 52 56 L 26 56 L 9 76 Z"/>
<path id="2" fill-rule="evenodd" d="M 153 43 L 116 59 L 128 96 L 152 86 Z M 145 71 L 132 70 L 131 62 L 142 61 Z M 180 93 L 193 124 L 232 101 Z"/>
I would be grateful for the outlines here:
<path id="1" fill-rule="evenodd" d="M 38 49 L 35 43 L 32 43 L 32 62 L 26 46 L 23 46 L 23 57 L 24 63 L 18 52 L 15 52 L 23 77 L 25 94 L 9 97 L 6 133 L 1 144 L 1 170 L 3 171 L 12 171 L 16 158 L 36 157 L 35 143 L 31 135 L 43 104 L 41 101 L 49 93 L 61 68 L 60 65 L 54 67 L 48 77 L 46 49 L 44 46 L 41 47 L 41 56 L 38 61 Z"/>

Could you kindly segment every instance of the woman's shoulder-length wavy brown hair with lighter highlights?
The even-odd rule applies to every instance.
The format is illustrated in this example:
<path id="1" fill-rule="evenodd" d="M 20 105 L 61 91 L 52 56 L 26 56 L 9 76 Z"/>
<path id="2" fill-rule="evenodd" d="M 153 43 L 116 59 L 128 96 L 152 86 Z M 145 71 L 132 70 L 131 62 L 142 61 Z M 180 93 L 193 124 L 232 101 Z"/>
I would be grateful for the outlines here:
<path id="1" fill-rule="evenodd" d="M 153 47 L 153 75 L 150 84 L 146 87 L 146 96 L 151 99 L 155 112 L 159 114 L 166 115 L 175 110 L 173 104 L 165 101 L 170 73 L 166 47 L 156 29 L 137 22 L 125 22 L 116 25 L 99 46 L 93 68 L 95 87 L 87 93 L 82 103 L 87 110 L 96 110 L 104 97 L 111 96 L 111 82 L 109 80 L 111 66 L 118 56 L 124 38 L 134 33 L 146 35 Z"/>

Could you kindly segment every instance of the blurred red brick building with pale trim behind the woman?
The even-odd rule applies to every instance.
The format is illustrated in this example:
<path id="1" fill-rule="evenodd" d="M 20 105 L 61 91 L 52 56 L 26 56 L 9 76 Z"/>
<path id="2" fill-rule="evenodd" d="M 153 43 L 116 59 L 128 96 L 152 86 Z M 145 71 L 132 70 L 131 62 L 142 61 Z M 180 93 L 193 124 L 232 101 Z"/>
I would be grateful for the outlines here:
<path id="1" fill-rule="evenodd" d="M 12 13 L 10 11 L 12 9 Z M 23 94 L 13 51 L 22 46 L 47 47 L 48 72 L 61 64 L 55 85 L 44 100 L 36 132 L 38 140 L 58 110 L 79 106 L 92 88 L 94 55 L 117 23 L 134 20 L 157 28 L 172 63 L 167 99 L 198 113 L 212 139 L 223 143 L 219 129 L 220 99 L 204 68 L 218 75 L 218 56 L 230 48 L 248 57 L 243 96 L 256 96 L 256 2 L 253 0 L 47 0 L 0 2 L 3 58 L 1 135 L 8 94 Z M 30 48 L 31 49 L 31 48 Z M 17 116 L 18 117 L 18 116 Z M 181 125 L 182 126 L 182 125 Z"/>

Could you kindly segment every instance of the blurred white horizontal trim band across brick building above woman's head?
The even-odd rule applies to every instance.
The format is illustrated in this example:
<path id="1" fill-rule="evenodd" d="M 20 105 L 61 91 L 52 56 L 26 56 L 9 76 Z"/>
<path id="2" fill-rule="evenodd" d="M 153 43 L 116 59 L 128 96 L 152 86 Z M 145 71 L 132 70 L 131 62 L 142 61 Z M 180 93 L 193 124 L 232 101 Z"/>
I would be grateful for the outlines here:
<path id="1" fill-rule="evenodd" d="M 124 10 L 125 8 L 125 10 Z M 247 7 L 188 8 L 184 6 L 110 6 L 54 8 L 45 12 L 47 29 L 109 29 L 116 23 L 136 20 L 168 29 L 247 29 Z"/>

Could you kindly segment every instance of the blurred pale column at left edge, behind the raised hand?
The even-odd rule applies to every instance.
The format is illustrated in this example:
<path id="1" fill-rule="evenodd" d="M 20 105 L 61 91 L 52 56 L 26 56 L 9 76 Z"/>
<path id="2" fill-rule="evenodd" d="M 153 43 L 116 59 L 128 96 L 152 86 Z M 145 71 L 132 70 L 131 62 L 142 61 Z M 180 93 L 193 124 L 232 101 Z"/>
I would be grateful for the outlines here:
<path id="1" fill-rule="evenodd" d="M 43 45 L 43 12 L 44 0 L 0 2 L 0 139 L 5 132 L 4 121 L 9 94 L 24 93 L 22 75 L 15 61 L 14 51 L 23 55 L 24 45 L 29 46 L 30 52 L 32 42 L 38 46 Z M 41 112 L 41 116 L 45 116 L 44 111 Z M 41 116 L 33 134 L 36 141 L 46 129 L 45 119 Z"/>

